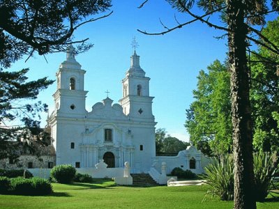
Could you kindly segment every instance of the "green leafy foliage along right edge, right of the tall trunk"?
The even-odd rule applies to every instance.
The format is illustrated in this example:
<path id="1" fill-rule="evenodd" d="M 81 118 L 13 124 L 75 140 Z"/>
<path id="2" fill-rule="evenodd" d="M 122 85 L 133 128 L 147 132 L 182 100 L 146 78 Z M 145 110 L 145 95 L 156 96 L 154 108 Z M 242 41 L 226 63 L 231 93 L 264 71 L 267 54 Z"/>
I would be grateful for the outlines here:
<path id="1" fill-rule="evenodd" d="M 279 17 L 268 22 L 262 34 L 275 45 L 279 45 Z M 253 145 L 256 151 L 279 151 L 279 77 L 276 75 L 276 65 L 279 54 L 275 54 L 265 47 L 259 47 L 251 54 L 252 86 L 250 99 L 252 104 L 252 118 L 254 121 Z"/>

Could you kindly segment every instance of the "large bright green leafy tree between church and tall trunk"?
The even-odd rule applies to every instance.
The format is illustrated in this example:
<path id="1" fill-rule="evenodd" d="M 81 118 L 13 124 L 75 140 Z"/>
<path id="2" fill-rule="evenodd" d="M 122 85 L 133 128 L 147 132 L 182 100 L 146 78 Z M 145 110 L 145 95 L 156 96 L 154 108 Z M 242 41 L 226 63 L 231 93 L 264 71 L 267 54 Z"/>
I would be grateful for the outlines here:
<path id="1" fill-rule="evenodd" d="M 186 110 L 190 140 L 206 155 L 231 153 L 232 118 L 227 66 L 216 60 L 199 71 L 195 101 Z"/>

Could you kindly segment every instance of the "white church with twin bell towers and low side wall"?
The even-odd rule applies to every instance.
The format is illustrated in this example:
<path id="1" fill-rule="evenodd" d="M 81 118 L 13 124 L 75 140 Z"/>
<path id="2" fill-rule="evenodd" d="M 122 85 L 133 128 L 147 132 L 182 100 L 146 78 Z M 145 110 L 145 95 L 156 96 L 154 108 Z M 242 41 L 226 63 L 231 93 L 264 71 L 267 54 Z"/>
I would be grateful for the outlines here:
<path id="1" fill-rule="evenodd" d="M 203 172 L 208 160 L 195 146 L 188 146 L 174 157 L 156 156 L 150 78 L 140 67 L 136 52 L 122 79 L 119 104 L 107 97 L 87 111 L 86 71 L 75 60 L 74 51 L 73 46 L 68 49 L 66 61 L 56 72 L 55 109 L 48 118 L 56 164 L 72 164 L 89 171 L 100 162 L 115 169 L 128 162 L 130 173 L 160 173 L 163 163 L 167 173 L 174 167 Z"/>

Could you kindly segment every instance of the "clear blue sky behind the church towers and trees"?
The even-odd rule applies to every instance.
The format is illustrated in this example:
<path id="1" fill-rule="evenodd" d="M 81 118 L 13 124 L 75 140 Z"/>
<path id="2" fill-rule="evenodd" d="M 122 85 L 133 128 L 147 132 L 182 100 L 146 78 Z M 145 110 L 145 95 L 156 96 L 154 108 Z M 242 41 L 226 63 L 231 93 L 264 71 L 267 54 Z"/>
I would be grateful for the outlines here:
<path id="1" fill-rule="evenodd" d="M 191 20 L 177 13 L 165 1 L 151 0 L 144 8 L 138 9 L 137 6 L 142 2 L 112 1 L 111 10 L 114 13 L 110 17 L 86 24 L 76 31 L 75 40 L 89 38 L 89 42 L 94 44 L 89 52 L 76 56 L 82 69 L 86 70 L 84 89 L 89 91 L 86 109 L 91 111 L 93 104 L 106 97 L 107 90 L 114 102 L 121 99 L 121 79 L 130 67 L 130 56 L 133 53 L 131 42 L 135 36 L 140 45 L 137 48 L 140 65 L 146 76 L 151 78 L 150 95 L 155 97 L 153 115 L 158 122 L 156 128 L 165 128 L 172 137 L 188 141 L 189 136 L 183 125 L 186 109 L 193 102 L 192 91 L 196 88 L 198 72 L 205 70 L 215 59 L 225 60 L 227 40 L 213 38 L 221 36 L 223 32 L 200 22 L 164 36 L 139 33 L 137 29 L 163 31 L 160 20 L 166 26 L 175 26 L 174 15 L 179 22 Z M 56 79 L 55 73 L 59 64 L 66 59 L 66 54 L 49 54 L 46 56 L 47 62 L 43 56 L 38 55 L 31 57 L 27 63 L 25 59 L 14 63 L 10 70 L 30 68 L 30 79 L 45 76 Z M 56 84 L 39 95 L 39 100 L 49 105 L 50 112 L 54 109 L 54 91 Z M 46 116 L 43 115 L 42 125 L 45 125 Z"/>

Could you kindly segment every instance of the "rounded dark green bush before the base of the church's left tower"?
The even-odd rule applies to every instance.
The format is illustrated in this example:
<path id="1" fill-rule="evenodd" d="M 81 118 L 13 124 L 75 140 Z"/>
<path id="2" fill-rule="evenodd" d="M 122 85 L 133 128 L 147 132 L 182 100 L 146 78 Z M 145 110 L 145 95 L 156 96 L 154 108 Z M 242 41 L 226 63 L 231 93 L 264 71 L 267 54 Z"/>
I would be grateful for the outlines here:
<path id="1" fill-rule="evenodd" d="M 70 164 L 61 164 L 53 167 L 50 171 L 50 177 L 57 183 L 71 183 L 75 178 L 76 169 Z"/>

